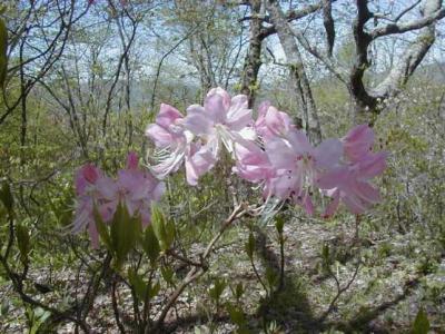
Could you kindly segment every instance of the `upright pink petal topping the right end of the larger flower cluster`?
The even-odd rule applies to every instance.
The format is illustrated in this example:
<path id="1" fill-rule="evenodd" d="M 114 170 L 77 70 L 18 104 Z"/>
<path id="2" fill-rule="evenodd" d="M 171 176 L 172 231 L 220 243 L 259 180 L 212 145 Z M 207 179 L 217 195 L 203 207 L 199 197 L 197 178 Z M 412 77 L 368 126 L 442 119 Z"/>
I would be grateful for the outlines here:
<path id="1" fill-rule="evenodd" d="M 354 127 L 344 138 L 346 157 L 352 161 L 360 159 L 372 150 L 374 139 L 374 131 L 367 125 Z"/>

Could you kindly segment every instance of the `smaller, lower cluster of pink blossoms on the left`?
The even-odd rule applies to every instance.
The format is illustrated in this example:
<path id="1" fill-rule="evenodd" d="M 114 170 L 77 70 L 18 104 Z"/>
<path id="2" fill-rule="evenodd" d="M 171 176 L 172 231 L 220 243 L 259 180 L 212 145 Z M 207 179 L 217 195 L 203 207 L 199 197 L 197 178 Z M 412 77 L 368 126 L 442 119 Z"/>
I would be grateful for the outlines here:
<path id="1" fill-rule="evenodd" d="M 131 216 L 140 215 L 142 226 L 147 226 L 151 202 L 159 200 L 165 191 L 162 181 L 138 167 L 138 156 L 135 153 L 128 155 L 127 167 L 118 171 L 117 179 L 88 164 L 76 174 L 75 186 L 77 206 L 73 233 L 88 228 L 95 248 L 99 242 L 95 209 L 105 223 L 109 223 L 121 203 Z"/>

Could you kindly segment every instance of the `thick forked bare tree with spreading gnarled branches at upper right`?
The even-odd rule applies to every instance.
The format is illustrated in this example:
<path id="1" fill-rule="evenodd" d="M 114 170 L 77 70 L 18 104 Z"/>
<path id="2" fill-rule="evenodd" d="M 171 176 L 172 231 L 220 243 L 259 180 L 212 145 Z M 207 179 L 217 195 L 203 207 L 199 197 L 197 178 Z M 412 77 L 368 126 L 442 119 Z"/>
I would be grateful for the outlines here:
<path id="1" fill-rule="evenodd" d="M 416 10 L 418 10 L 418 14 Z M 445 17 L 445 8 L 439 0 L 424 0 L 405 4 L 398 10 L 392 7 L 388 12 L 378 12 L 372 9 L 369 1 L 357 0 L 355 17 L 350 18 L 354 60 L 349 68 L 342 67 L 333 57 L 332 50 L 335 42 L 333 21 L 335 23 L 338 18 L 332 19 L 332 4 L 324 7 L 326 48 L 318 48 L 317 43 L 314 43 L 307 36 L 307 31 L 296 27 L 293 27 L 289 33 L 299 41 L 306 51 L 320 60 L 337 79 L 346 85 L 353 100 L 354 121 L 372 124 L 375 116 L 384 108 L 382 102 L 399 92 L 433 46 L 435 26 Z M 404 20 L 406 17 L 409 19 Z M 329 23 L 326 24 L 326 22 Z M 384 37 L 400 35 L 409 37 L 415 32 L 415 37 L 400 52 L 397 61 L 393 62 L 384 79 L 377 85 L 366 84 L 365 73 L 372 62 L 377 60 L 372 55 L 373 43 Z"/>

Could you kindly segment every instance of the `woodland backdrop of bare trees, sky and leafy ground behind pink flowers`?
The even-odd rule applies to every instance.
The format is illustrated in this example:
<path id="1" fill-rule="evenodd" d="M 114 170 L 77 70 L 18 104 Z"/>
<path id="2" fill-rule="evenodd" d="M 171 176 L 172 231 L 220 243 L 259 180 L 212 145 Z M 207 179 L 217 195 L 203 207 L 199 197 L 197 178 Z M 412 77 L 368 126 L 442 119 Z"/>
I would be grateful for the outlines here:
<path id="1" fill-rule="evenodd" d="M 442 333 L 442 2 L 2 1 L 0 331 Z M 233 212 L 233 193 L 260 195 L 224 163 L 197 187 L 169 178 L 162 209 L 177 253 L 147 265 L 145 282 L 69 233 L 73 174 L 87 161 L 116 173 L 130 150 L 150 163 L 144 132 L 160 104 L 185 114 L 215 87 L 247 95 L 254 110 L 270 100 L 315 144 L 373 126 L 389 153 L 383 200 L 359 219 L 286 206 L 281 228 L 233 226 L 164 314 Z M 136 286 L 149 295 L 146 318 Z"/>

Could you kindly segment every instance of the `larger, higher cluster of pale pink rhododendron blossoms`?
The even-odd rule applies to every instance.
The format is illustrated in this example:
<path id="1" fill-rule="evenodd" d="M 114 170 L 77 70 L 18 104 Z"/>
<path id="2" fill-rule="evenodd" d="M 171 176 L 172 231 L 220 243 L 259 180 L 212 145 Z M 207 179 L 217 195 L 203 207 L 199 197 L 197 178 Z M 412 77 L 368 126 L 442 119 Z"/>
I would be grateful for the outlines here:
<path id="1" fill-rule="evenodd" d="M 247 97 L 230 97 L 211 89 L 204 106 L 192 105 L 184 116 L 161 105 L 156 124 L 146 135 L 157 148 L 151 170 L 164 178 L 186 165 L 187 181 L 197 185 L 218 161 L 222 147 L 235 161 L 239 177 L 263 186 L 266 200 L 278 198 L 301 205 L 314 214 L 317 190 L 330 198 L 324 216 L 332 216 L 342 200 L 354 214 L 379 200 L 369 180 L 386 167 L 386 153 L 374 153 L 374 131 L 365 125 L 344 138 L 329 138 L 314 147 L 290 117 L 263 102 L 254 121 Z"/>

